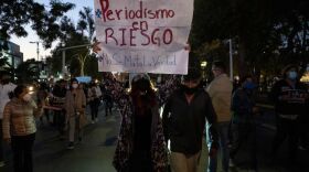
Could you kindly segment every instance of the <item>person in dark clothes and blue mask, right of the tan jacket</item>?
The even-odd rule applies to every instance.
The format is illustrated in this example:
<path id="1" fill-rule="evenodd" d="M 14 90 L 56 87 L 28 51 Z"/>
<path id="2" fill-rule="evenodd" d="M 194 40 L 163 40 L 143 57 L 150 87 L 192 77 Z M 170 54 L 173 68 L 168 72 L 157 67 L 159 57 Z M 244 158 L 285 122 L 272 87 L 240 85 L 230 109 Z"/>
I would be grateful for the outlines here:
<path id="1" fill-rule="evenodd" d="M 247 141 L 249 147 L 249 171 L 257 171 L 256 159 L 256 125 L 255 114 L 255 88 L 252 76 L 245 76 L 241 79 L 242 86 L 237 88 L 232 96 L 232 147 L 230 150 L 230 161 L 234 164 L 235 155 Z"/>

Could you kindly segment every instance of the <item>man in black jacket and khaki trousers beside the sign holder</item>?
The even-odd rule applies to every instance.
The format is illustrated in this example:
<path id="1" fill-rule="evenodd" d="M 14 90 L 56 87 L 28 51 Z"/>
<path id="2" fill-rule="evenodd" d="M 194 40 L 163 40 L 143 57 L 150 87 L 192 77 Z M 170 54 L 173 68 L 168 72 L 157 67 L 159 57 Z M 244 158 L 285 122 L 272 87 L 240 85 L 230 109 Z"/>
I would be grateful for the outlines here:
<path id="1" fill-rule="evenodd" d="M 196 172 L 201 157 L 205 121 L 216 155 L 219 138 L 216 114 L 209 94 L 201 87 L 199 68 L 190 67 L 181 86 L 168 98 L 162 114 L 166 142 L 170 142 L 171 168 L 174 172 Z"/>

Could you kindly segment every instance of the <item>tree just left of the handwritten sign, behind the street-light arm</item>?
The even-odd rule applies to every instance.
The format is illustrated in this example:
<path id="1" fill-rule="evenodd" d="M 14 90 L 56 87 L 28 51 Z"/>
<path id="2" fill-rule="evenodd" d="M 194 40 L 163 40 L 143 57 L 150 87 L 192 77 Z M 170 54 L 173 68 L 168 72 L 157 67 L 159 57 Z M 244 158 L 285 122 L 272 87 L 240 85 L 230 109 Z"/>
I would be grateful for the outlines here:
<path id="1" fill-rule="evenodd" d="M 94 34 L 94 20 L 92 15 L 92 10 L 89 8 L 84 8 L 84 11 L 79 11 L 79 21 L 75 24 L 71 19 L 64 18 L 61 21 L 61 44 L 56 46 L 53 51 L 53 66 L 57 72 L 61 71 L 61 51 L 57 51 L 62 47 L 71 47 L 76 45 L 87 45 L 90 44 L 92 36 Z M 79 75 L 94 75 L 94 69 L 97 73 L 97 63 L 93 61 L 96 60 L 90 52 L 89 46 L 72 49 L 65 51 L 66 65 L 68 66 L 70 73 L 72 76 Z M 97 62 L 97 61 L 96 61 Z M 87 67 L 86 67 L 87 66 Z M 54 72 L 56 72 L 54 71 Z"/>

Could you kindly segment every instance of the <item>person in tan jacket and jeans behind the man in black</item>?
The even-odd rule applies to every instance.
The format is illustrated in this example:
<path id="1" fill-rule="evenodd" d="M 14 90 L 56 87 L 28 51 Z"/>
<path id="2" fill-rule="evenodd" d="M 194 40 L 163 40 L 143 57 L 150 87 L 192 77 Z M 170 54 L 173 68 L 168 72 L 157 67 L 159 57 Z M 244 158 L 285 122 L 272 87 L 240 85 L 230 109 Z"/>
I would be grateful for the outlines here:
<path id="1" fill-rule="evenodd" d="M 214 110 L 217 116 L 217 131 L 219 142 L 222 159 L 222 168 L 224 172 L 228 172 L 228 126 L 231 122 L 231 98 L 233 85 L 227 75 L 225 74 L 225 64 L 221 61 L 215 61 L 212 64 L 212 73 L 214 79 L 207 86 L 209 93 Z M 207 140 L 207 144 L 211 148 L 212 141 Z M 209 172 L 216 172 L 217 157 L 211 157 L 209 159 Z"/>

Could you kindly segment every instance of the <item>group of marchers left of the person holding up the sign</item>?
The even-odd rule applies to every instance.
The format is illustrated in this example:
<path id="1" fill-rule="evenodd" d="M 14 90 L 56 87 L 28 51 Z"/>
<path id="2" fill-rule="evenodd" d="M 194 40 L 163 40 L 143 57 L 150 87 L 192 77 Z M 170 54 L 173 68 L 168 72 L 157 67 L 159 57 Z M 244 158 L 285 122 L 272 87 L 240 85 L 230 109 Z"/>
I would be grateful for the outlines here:
<path id="1" fill-rule="evenodd" d="M 82 141 L 83 128 L 98 121 L 102 103 L 106 101 L 108 114 L 113 115 L 113 99 L 107 84 L 99 85 L 94 80 L 85 84 L 72 78 L 60 79 L 54 85 L 41 83 L 36 90 L 31 90 L 24 84 L 15 85 L 10 80 L 9 73 L 0 73 L 0 168 L 6 165 L 3 142 L 7 142 L 12 148 L 14 172 L 33 171 L 36 123 L 54 127 L 58 139 L 68 141 L 66 148 L 74 149 L 75 143 Z"/>

